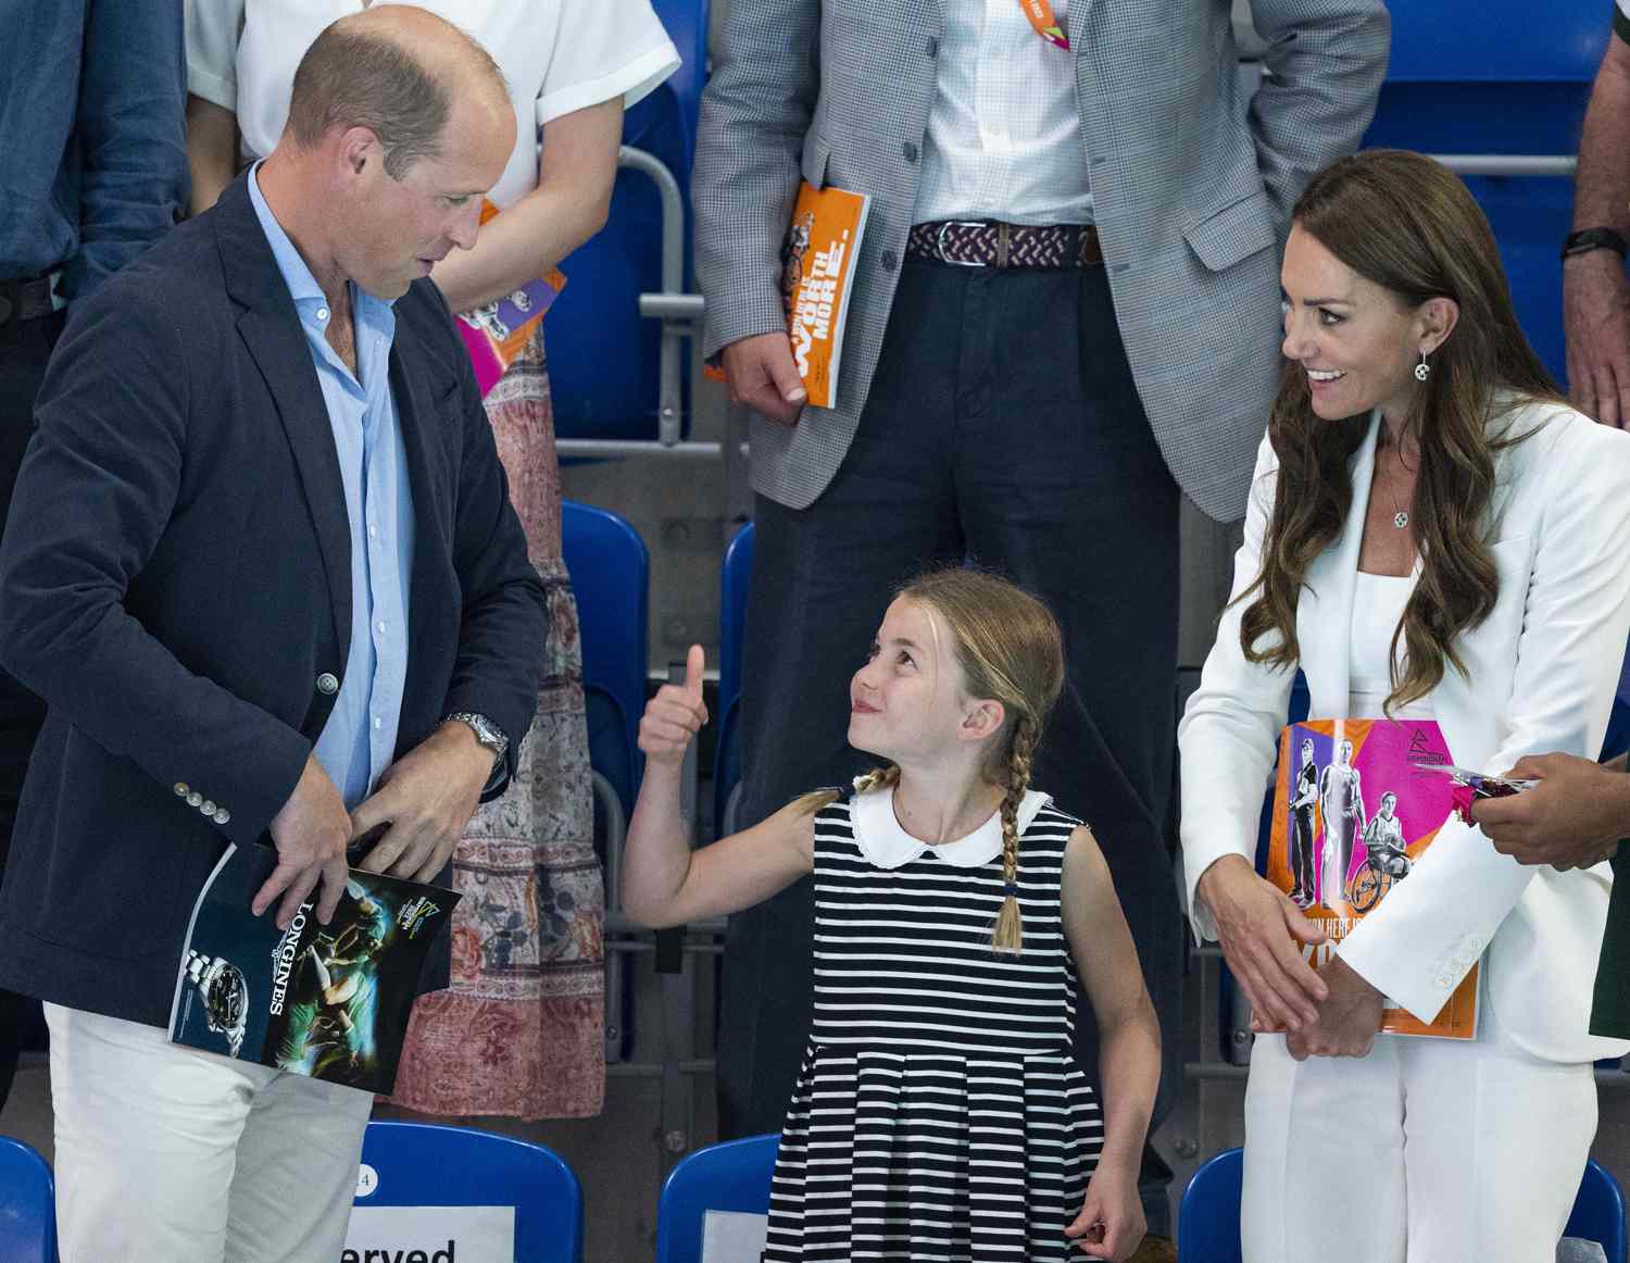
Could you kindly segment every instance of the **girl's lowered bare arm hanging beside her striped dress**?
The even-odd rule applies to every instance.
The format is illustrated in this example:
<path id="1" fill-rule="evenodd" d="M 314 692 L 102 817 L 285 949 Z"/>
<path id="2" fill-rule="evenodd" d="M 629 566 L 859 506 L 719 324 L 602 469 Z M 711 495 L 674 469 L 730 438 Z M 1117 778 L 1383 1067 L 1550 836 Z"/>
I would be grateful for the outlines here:
<path id="1" fill-rule="evenodd" d="M 1138 1168 L 1161 1082 L 1161 1025 L 1108 864 L 1086 826 L 1064 847 L 1063 901 L 1064 935 L 1099 1025 L 1104 1089 L 1104 1152 L 1081 1216 L 1066 1230 L 1094 1258 L 1125 1258 L 1144 1234 Z M 1104 1226 L 1099 1242 L 1089 1234 L 1094 1224 Z"/>

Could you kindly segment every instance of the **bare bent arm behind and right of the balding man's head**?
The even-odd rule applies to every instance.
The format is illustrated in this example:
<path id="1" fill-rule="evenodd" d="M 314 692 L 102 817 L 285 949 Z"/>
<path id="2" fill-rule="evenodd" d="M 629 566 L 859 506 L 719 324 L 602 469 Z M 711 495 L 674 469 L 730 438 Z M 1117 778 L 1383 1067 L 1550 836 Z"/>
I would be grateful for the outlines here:
<path id="1" fill-rule="evenodd" d="M 611 210 L 621 137 L 621 96 L 546 122 L 538 187 L 482 223 L 474 249 L 435 266 L 447 305 L 469 311 L 502 298 L 598 233 Z"/>

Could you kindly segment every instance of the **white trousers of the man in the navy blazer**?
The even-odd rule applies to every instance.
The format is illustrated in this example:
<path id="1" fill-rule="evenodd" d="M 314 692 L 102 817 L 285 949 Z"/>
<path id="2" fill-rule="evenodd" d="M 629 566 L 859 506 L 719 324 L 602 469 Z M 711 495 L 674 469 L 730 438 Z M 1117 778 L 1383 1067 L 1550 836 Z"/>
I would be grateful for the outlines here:
<path id="1" fill-rule="evenodd" d="M 373 1097 L 46 1006 L 62 1263 L 337 1260 Z"/>

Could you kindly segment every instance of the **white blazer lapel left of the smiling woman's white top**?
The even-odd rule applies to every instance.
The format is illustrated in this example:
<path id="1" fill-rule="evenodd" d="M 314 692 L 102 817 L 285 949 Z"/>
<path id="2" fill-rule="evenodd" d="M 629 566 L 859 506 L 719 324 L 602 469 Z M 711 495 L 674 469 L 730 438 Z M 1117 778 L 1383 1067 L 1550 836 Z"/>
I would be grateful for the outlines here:
<path id="1" fill-rule="evenodd" d="M 1307 676 L 1311 711 L 1320 715 L 1346 714 L 1353 654 L 1353 593 L 1358 588 L 1358 554 L 1364 543 L 1364 515 L 1369 512 L 1369 484 L 1376 473 L 1376 435 L 1381 412 L 1369 419 L 1369 432 L 1353 453 L 1353 504 L 1341 535 L 1307 567 L 1307 580 L 1296 603 L 1296 640 Z"/>

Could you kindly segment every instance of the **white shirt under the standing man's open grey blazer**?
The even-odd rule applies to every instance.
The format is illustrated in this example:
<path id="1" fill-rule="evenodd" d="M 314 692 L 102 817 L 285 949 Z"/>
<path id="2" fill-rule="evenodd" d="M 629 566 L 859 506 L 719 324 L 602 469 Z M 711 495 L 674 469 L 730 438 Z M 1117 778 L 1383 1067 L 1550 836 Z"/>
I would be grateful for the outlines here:
<path id="1" fill-rule="evenodd" d="M 1053 0 L 1069 29 L 1069 0 Z M 1090 223 L 1076 51 L 1037 34 L 1015 0 L 944 7 L 939 86 L 914 223 Z"/>

